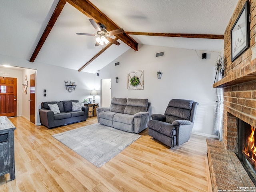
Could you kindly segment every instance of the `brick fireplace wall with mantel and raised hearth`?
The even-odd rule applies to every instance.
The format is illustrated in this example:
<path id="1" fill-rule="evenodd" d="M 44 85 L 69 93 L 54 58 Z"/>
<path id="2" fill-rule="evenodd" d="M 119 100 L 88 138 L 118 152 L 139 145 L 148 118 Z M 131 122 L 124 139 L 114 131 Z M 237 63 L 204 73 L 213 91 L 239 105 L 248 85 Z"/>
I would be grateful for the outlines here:
<path id="1" fill-rule="evenodd" d="M 225 77 L 213 84 L 214 88 L 224 88 L 223 141 L 207 140 L 213 191 L 254 186 L 235 154 L 238 119 L 256 127 L 256 59 L 252 60 L 252 47 L 256 45 L 255 0 L 249 0 L 250 47 L 236 60 L 231 61 L 230 30 L 245 2 L 246 0 L 238 1 L 224 33 Z"/>

